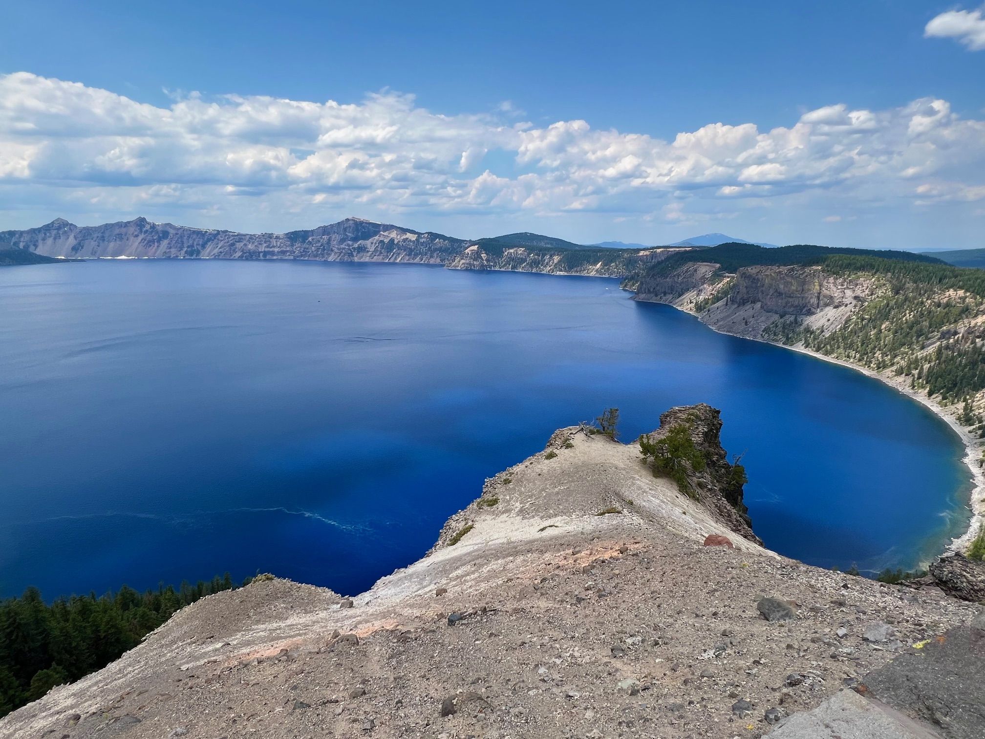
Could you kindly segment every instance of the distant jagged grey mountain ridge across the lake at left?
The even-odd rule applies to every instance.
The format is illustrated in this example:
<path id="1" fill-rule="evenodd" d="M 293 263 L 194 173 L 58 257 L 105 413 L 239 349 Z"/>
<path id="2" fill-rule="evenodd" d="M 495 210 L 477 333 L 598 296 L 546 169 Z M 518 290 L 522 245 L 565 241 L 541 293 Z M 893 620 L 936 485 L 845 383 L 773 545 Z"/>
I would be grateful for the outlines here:
<path id="1" fill-rule="evenodd" d="M 37 229 L 2 232 L 0 243 L 5 241 L 46 256 L 322 259 L 430 264 L 443 264 L 467 243 L 458 238 L 357 218 L 288 234 L 189 229 L 155 224 L 145 218 L 86 227 L 57 219 Z"/>

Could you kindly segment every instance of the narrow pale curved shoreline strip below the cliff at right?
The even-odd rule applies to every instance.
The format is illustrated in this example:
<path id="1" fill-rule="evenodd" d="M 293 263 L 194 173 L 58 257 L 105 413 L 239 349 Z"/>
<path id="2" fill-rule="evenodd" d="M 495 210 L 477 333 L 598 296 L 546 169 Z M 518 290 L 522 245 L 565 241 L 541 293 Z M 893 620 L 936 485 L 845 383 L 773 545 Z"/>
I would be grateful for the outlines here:
<path id="1" fill-rule="evenodd" d="M 968 473 L 971 476 L 971 491 L 968 494 L 969 501 L 967 507 L 971 510 L 971 518 L 968 521 L 968 526 L 964 533 L 960 536 L 952 537 L 951 543 L 944 548 L 944 552 L 940 556 L 951 555 L 955 552 L 964 553 L 970 546 L 971 541 L 975 538 L 980 530 L 985 527 L 985 469 L 982 469 L 978 464 L 979 456 L 981 454 L 983 444 L 980 440 L 971 437 L 967 429 L 957 423 L 957 420 L 953 417 L 952 412 L 946 406 L 941 405 L 933 398 L 924 394 L 922 391 L 914 390 L 909 387 L 903 380 L 895 375 L 886 374 L 886 372 L 879 372 L 876 370 L 870 370 L 869 368 L 862 367 L 861 365 L 855 365 L 851 362 L 845 360 L 839 360 L 834 357 L 828 357 L 820 352 L 815 352 L 814 350 L 807 349 L 804 346 L 791 345 L 791 344 L 780 344 L 775 341 L 769 341 L 768 339 L 757 339 L 751 336 L 742 336 L 741 334 L 733 334 L 728 331 L 722 331 L 712 326 L 709 323 L 701 320 L 701 316 L 697 313 L 688 310 L 686 308 L 675 305 L 672 302 L 662 302 L 662 301 L 648 301 L 645 298 L 636 297 L 635 291 L 627 290 L 627 293 L 633 294 L 634 301 L 638 302 L 656 302 L 662 305 L 670 305 L 676 310 L 688 313 L 697 318 L 701 323 L 710 328 L 716 333 L 724 334 L 725 336 L 735 336 L 740 339 L 749 339 L 750 341 L 758 341 L 763 344 L 770 344 L 774 347 L 780 347 L 782 349 L 789 349 L 794 352 L 799 352 L 800 354 L 806 354 L 809 357 L 813 357 L 816 360 L 821 360 L 822 362 L 829 362 L 833 365 L 840 365 L 841 367 L 848 368 L 849 370 L 855 370 L 861 372 L 868 377 L 879 380 L 883 384 L 892 388 L 896 392 L 907 396 L 911 400 L 923 405 L 925 408 L 931 411 L 935 416 L 944 421 L 952 432 L 960 439 L 961 445 L 964 447 L 964 455 L 961 461 L 964 466 L 968 469 Z"/>

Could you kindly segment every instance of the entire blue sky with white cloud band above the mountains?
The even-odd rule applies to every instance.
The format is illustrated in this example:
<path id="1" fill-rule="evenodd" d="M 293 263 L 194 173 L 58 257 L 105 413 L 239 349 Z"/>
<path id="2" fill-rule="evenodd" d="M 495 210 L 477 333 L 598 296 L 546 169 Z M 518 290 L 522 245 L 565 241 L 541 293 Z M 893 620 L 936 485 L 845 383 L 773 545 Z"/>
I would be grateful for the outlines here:
<path id="1" fill-rule="evenodd" d="M 974 4 L 42 1 L 0 27 L 0 228 L 985 246 Z"/>

